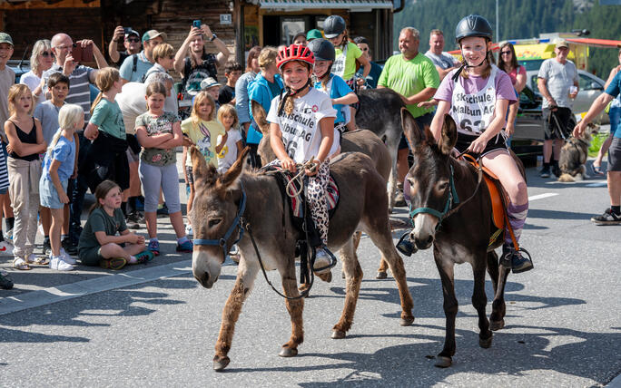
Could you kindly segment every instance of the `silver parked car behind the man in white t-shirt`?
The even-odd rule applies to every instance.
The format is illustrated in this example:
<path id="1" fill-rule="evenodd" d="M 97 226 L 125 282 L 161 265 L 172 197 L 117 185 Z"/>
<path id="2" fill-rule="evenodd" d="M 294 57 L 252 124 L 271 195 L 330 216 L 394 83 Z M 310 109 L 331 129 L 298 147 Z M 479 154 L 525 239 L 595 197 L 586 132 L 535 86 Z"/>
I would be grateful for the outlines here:
<path id="1" fill-rule="evenodd" d="M 537 88 L 537 73 L 537 70 L 527 71 L 527 86 L 532 91 L 539 94 L 539 90 Z M 584 70 L 578 70 L 579 90 L 571 109 L 572 112 L 576 114 L 587 112 L 588 108 L 591 107 L 591 104 L 596 100 L 596 98 L 604 92 L 604 84 L 606 84 L 606 81 L 596 75 L 587 73 Z M 610 119 L 606 113 L 601 112 L 593 122 L 597 124 L 609 124 Z"/>

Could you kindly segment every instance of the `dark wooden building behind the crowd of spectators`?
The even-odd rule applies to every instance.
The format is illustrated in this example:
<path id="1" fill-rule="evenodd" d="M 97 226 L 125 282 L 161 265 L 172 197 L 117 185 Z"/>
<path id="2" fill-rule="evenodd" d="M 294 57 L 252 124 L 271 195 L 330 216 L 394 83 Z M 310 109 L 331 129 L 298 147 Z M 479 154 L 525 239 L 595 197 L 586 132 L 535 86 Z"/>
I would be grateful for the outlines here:
<path id="1" fill-rule="evenodd" d="M 107 52 L 116 25 L 165 32 L 177 49 L 200 19 L 243 64 L 252 45 L 290 44 L 294 34 L 341 15 L 350 37 L 365 36 L 379 60 L 392 53 L 392 14 L 399 10 L 393 0 L 0 0 L 0 31 L 14 39 L 13 59 L 27 59 L 36 40 L 60 32 L 93 39 Z M 215 48 L 207 43 L 207 50 Z"/>

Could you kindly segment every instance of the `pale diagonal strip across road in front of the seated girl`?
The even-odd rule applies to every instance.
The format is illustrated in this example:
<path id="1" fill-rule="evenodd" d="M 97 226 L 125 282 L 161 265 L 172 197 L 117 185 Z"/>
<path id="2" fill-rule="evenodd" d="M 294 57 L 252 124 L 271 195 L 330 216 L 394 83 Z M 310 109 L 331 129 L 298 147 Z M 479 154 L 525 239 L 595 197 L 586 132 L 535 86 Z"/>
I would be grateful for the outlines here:
<path id="1" fill-rule="evenodd" d="M 192 260 L 183 260 L 163 266 L 100 276 L 94 279 L 44 288 L 16 296 L 7 296 L 0 298 L 0 315 L 110 291 L 115 288 L 139 285 L 166 277 L 181 276 L 191 272 Z"/>

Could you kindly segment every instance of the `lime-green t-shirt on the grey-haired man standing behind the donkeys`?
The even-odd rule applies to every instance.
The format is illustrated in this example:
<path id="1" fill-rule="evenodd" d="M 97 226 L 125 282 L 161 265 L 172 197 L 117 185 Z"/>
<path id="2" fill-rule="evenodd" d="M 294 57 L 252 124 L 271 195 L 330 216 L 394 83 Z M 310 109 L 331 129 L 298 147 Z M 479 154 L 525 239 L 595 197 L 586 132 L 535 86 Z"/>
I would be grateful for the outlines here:
<path id="1" fill-rule="evenodd" d="M 425 88 L 439 87 L 439 74 L 436 66 L 422 53 L 409 61 L 403 54 L 392 55 L 381 72 L 378 86 L 384 86 L 405 97 L 413 96 Z M 408 105 L 412 117 L 419 117 L 433 112 L 434 108 L 419 108 L 416 104 Z"/>

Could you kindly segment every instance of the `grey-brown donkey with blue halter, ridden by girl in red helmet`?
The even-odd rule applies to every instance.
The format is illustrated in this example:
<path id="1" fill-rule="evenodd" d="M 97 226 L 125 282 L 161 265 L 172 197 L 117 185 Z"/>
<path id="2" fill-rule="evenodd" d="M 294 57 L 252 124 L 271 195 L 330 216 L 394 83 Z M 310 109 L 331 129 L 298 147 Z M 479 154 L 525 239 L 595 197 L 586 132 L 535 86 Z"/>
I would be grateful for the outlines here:
<path id="1" fill-rule="evenodd" d="M 194 147 L 190 151 L 196 188 L 190 215 L 196 238 L 192 273 L 202 286 L 211 288 L 218 280 L 227 247 L 231 247 L 241 237 L 238 242 L 240 265 L 235 286 L 222 311 L 213 368 L 222 371 L 231 361 L 227 354 L 231 349 L 235 323 L 261 267 L 258 255 L 261 255 L 266 270 L 276 269 L 281 274 L 285 296 L 295 298 L 285 299 L 285 306 L 291 316 L 291 338 L 282 345 L 279 354 L 282 357 L 295 356 L 298 354 L 298 345 L 304 339 L 304 300 L 299 297 L 295 277 L 295 246 L 301 233 L 294 228 L 289 209 L 283 207 L 285 199 L 276 178 L 273 174 L 242 173 L 247 150 L 223 175 L 213 166 L 207 166 L 201 153 Z M 339 322 L 332 329 L 332 338 L 344 338 L 353 322 L 362 269 L 354 252 L 352 235 L 359 229 L 370 236 L 389 263 L 399 288 L 399 323 L 411 325 L 414 322 L 411 312 L 413 301 L 403 261 L 390 235 L 384 179 L 375 170 L 370 158 L 360 152 L 343 153 L 334 158 L 330 163 L 330 173 L 339 182 L 340 204 L 330 218 L 328 246 L 330 249 L 341 249 L 346 276 L 345 306 Z M 238 221 L 241 226 L 236 226 Z M 247 231 L 243 236 L 242 230 Z M 216 245 L 202 245 L 203 241 L 210 239 L 210 244 L 215 241 Z"/>

